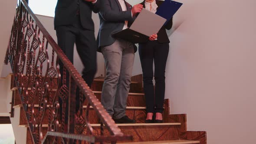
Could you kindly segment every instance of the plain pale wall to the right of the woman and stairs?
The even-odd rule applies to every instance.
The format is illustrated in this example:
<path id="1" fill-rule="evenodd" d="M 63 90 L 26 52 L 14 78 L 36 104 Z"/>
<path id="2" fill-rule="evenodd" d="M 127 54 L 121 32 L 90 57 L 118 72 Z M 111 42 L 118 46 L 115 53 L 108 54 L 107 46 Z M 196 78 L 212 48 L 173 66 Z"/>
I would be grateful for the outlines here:
<path id="1" fill-rule="evenodd" d="M 207 144 L 256 141 L 256 1 L 177 0 L 166 68 L 171 112 Z"/>

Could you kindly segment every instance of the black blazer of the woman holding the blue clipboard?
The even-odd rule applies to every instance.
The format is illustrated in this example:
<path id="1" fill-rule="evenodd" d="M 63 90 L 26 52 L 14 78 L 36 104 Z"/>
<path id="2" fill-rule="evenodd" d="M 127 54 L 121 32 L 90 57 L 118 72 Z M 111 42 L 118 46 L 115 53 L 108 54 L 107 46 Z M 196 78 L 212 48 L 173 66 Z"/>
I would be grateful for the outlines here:
<path id="1" fill-rule="evenodd" d="M 158 5 L 158 8 L 161 6 L 161 4 L 164 1 L 162 0 L 156 0 L 156 4 Z M 145 8 L 145 0 L 141 3 L 143 7 Z M 157 8 L 157 10 L 158 10 Z M 166 29 L 170 30 L 172 27 L 172 18 L 168 21 L 168 23 L 165 26 L 162 26 L 161 29 L 158 32 L 158 42 L 159 43 L 170 43 L 170 40 L 167 36 Z"/>

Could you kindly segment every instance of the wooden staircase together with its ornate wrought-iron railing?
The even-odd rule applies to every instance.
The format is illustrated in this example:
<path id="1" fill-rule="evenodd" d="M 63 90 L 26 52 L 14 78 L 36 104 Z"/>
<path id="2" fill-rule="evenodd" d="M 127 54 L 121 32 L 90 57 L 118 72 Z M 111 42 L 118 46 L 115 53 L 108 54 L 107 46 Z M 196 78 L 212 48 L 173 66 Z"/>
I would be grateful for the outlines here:
<path id="1" fill-rule="evenodd" d="M 127 115 L 137 123 L 115 124 L 99 101 L 103 78 L 94 80 L 92 90 L 88 87 L 26 0 L 19 0 L 4 62 L 10 63 L 14 75 L 10 80 L 12 94 L 9 98 L 12 98 L 10 119 L 16 144 L 207 143 L 205 131 L 187 131 L 185 114 L 170 115 L 168 99 L 164 102 L 164 123 L 144 124 L 146 112 L 141 75 L 131 79 L 127 100 Z M 63 73 L 59 70 L 59 62 L 63 63 Z M 80 113 L 76 115 L 75 95 L 78 93 Z M 64 101 L 62 104 L 59 98 Z M 64 108 L 60 111 L 60 105 L 69 112 Z M 60 114 L 62 121 L 59 121 Z M 79 116 L 78 121 L 75 116 Z"/>

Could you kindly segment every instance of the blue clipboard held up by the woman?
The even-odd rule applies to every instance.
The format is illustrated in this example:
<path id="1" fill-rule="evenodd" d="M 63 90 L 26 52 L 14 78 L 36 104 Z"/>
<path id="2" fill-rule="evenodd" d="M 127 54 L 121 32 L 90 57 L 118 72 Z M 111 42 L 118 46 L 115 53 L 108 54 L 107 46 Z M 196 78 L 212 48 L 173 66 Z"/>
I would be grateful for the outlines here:
<path id="1" fill-rule="evenodd" d="M 166 25 L 166 23 L 171 20 L 171 18 L 174 16 L 174 14 L 177 12 L 177 10 L 179 10 L 179 8 L 181 7 L 183 3 L 178 3 L 176 1 L 172 1 L 172 0 L 165 0 L 161 6 L 158 8 L 156 14 L 158 16 L 161 16 L 163 18 L 165 18 L 167 21 L 164 23 L 164 25 Z"/>

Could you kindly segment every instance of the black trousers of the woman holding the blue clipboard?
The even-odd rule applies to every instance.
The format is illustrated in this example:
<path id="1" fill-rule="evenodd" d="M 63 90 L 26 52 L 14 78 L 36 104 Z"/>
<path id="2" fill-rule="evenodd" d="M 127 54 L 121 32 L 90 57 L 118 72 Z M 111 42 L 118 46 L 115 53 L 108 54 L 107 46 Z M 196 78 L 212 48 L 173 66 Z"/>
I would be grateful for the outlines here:
<path id="1" fill-rule="evenodd" d="M 147 112 L 162 113 L 164 110 L 165 66 L 168 53 L 169 43 L 159 43 L 157 40 L 154 40 L 139 44 Z M 155 79 L 155 92 L 153 76 Z"/>

